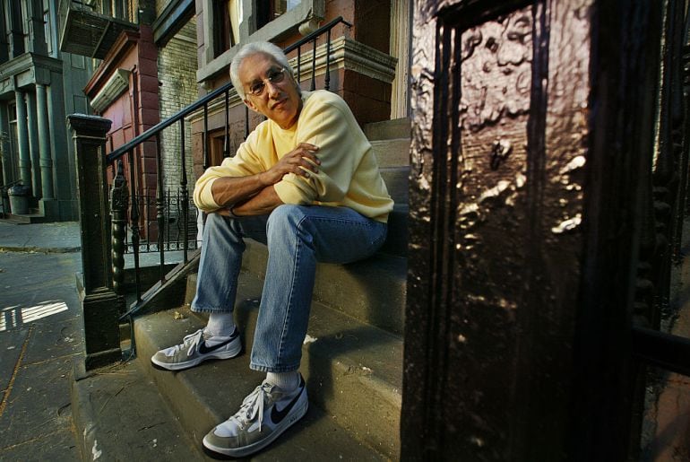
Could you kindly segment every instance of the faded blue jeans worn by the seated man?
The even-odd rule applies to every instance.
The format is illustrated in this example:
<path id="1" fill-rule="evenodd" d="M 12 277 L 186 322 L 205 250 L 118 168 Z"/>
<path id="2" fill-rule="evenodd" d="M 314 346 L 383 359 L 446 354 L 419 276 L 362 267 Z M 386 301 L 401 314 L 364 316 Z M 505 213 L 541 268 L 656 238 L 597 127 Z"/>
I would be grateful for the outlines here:
<path id="1" fill-rule="evenodd" d="M 342 264 L 369 257 L 384 243 L 386 232 L 385 223 L 347 207 L 280 205 L 270 215 L 242 218 L 209 214 L 192 309 L 232 312 L 243 238 L 266 243 L 269 256 L 250 367 L 297 370 L 316 262 Z"/>

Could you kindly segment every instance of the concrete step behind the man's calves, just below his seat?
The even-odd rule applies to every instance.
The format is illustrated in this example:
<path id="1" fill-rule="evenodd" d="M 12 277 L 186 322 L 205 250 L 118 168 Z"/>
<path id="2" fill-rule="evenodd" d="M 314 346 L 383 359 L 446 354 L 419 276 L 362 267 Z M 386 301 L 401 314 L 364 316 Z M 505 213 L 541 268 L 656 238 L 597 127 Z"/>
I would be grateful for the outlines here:
<path id="1" fill-rule="evenodd" d="M 252 275 L 266 275 L 268 248 L 246 240 L 243 268 Z M 187 284 L 186 302 L 194 296 L 195 275 Z M 405 325 L 407 260 L 377 254 L 349 265 L 316 266 L 314 301 L 341 311 L 360 322 L 401 335 Z"/>

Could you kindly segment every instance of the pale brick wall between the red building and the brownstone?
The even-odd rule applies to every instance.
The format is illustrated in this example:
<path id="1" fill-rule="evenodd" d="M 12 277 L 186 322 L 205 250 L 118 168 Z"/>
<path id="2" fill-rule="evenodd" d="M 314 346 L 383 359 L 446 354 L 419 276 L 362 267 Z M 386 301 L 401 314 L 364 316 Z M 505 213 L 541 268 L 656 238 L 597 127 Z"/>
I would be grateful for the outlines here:
<path id="1" fill-rule="evenodd" d="M 199 98 L 196 84 L 196 21 L 192 18 L 177 35 L 159 50 L 159 104 L 160 120 L 165 120 L 179 109 Z M 194 187 L 192 137 L 189 124 L 185 124 L 185 163 L 187 189 Z M 168 127 L 161 135 L 163 158 L 163 184 L 166 189 L 177 190 L 182 179 L 180 127 Z"/>

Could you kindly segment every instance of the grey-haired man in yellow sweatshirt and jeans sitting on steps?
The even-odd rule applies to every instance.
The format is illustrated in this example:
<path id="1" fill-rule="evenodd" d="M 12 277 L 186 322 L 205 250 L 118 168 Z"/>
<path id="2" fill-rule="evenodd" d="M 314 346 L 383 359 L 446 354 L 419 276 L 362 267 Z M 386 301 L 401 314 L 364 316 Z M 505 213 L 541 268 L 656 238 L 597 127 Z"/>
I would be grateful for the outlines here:
<path id="1" fill-rule="evenodd" d="M 206 170 L 194 203 L 208 213 L 192 309 L 207 326 L 151 362 L 167 370 L 228 359 L 241 344 L 232 311 L 245 236 L 268 246 L 250 368 L 267 372 L 206 449 L 243 457 L 263 449 L 306 414 L 299 373 L 317 261 L 349 263 L 384 243 L 392 199 L 375 155 L 347 104 L 331 92 L 302 92 L 280 48 L 255 42 L 230 65 L 245 104 L 268 120 L 237 154 Z M 258 226 L 257 226 L 258 223 Z"/>

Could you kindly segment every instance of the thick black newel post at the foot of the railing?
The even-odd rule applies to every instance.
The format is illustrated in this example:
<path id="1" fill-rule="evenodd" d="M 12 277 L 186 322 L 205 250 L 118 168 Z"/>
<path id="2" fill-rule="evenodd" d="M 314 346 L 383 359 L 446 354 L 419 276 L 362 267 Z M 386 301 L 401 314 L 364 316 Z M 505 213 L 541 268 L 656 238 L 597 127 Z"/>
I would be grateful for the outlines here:
<path id="1" fill-rule="evenodd" d="M 118 303 L 113 291 L 109 250 L 109 207 L 106 183 L 107 118 L 73 114 L 77 161 L 77 190 L 82 231 L 83 285 L 80 288 L 84 321 L 84 365 L 95 369 L 122 358 Z M 79 283 L 79 280 L 77 281 Z"/>

